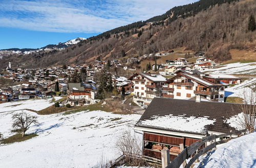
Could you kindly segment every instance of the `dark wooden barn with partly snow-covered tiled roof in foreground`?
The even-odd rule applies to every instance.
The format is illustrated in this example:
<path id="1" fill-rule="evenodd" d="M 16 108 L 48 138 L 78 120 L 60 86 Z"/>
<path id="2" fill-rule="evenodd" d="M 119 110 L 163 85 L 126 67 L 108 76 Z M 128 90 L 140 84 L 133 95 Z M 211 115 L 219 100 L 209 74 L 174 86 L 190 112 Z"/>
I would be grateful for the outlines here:
<path id="1" fill-rule="evenodd" d="M 170 160 L 210 133 L 222 134 L 239 128 L 230 126 L 240 113 L 239 104 L 154 98 L 135 130 L 143 132 L 143 156 L 161 159 L 161 150 L 168 149 Z"/>

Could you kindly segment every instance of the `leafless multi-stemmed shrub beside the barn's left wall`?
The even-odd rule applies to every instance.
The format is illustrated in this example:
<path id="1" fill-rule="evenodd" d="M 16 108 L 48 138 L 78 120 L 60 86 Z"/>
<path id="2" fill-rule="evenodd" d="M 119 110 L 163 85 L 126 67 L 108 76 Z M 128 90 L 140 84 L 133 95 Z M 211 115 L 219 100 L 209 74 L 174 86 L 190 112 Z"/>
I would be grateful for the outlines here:
<path id="1" fill-rule="evenodd" d="M 116 150 L 118 154 L 124 155 L 124 162 L 129 165 L 143 166 L 142 144 L 138 136 L 131 133 L 131 130 L 124 131 L 117 139 Z"/>

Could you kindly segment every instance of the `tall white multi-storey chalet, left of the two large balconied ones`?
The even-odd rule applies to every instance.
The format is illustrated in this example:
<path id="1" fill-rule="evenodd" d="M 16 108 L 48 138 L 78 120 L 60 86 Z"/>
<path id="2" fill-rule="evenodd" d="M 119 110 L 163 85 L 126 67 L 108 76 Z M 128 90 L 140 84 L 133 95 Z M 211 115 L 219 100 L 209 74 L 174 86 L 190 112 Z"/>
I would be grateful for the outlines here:
<path id="1" fill-rule="evenodd" d="M 136 73 L 129 78 L 133 82 L 133 101 L 142 106 L 151 103 L 154 97 L 160 97 L 166 78 L 160 74 Z"/>

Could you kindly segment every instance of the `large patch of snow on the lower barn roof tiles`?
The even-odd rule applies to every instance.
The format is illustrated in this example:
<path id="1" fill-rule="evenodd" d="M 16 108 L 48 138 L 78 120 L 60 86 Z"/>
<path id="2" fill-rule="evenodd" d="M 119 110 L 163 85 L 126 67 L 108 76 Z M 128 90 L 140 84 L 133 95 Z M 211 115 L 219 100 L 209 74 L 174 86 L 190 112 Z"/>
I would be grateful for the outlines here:
<path id="1" fill-rule="evenodd" d="M 139 121 L 137 125 L 204 133 L 205 126 L 214 124 L 214 122 L 216 122 L 216 120 L 209 120 L 207 117 L 166 115 L 153 116 L 150 120 Z"/>

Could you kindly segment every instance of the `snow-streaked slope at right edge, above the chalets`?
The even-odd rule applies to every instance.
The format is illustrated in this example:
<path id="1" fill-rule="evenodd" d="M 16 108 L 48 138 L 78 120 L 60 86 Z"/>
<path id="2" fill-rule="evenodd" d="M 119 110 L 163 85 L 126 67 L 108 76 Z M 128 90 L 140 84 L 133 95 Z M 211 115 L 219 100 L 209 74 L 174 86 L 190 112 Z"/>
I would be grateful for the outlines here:
<path id="1" fill-rule="evenodd" d="M 217 69 L 206 70 L 214 71 L 214 73 L 218 74 L 256 74 L 256 62 L 254 63 L 232 63 L 224 65 L 224 67 Z M 212 72 L 209 72 L 212 73 Z"/>

